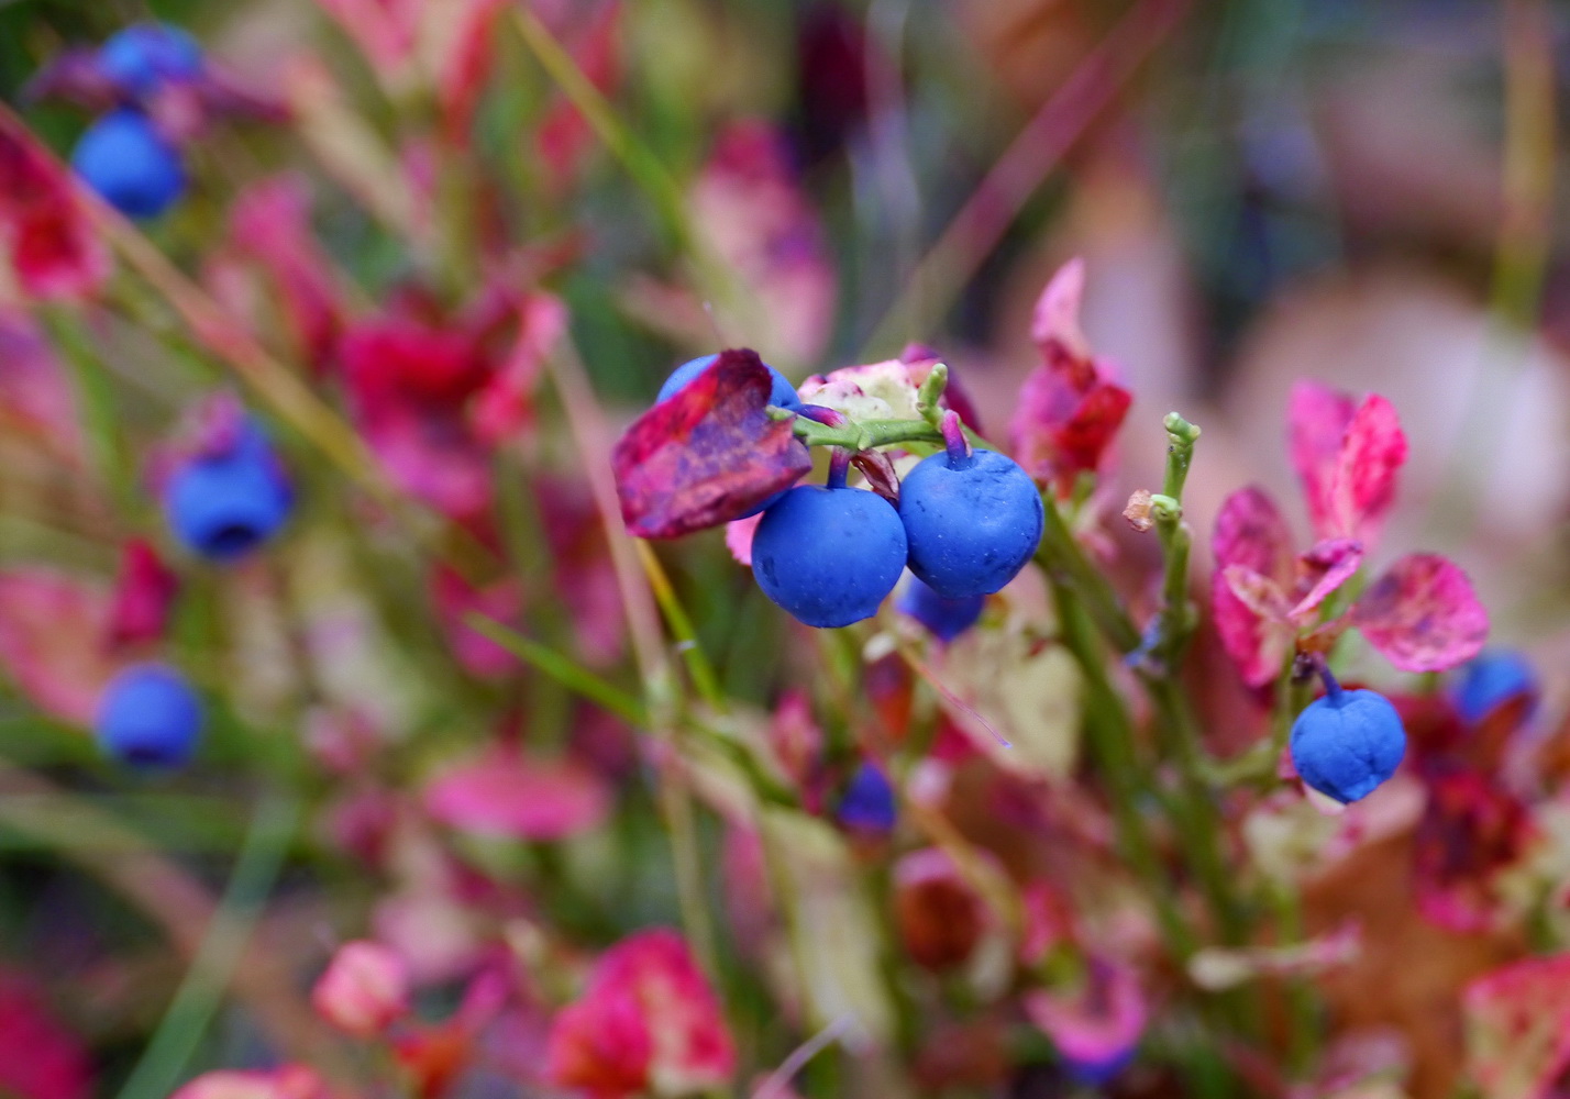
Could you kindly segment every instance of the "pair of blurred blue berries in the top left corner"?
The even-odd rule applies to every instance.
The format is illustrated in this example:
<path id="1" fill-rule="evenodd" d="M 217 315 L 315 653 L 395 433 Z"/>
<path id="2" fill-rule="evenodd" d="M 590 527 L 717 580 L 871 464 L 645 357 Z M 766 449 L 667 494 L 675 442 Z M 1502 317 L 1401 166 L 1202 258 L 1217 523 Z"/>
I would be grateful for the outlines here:
<path id="1" fill-rule="evenodd" d="M 201 47 L 176 27 L 138 24 L 104 42 L 97 68 L 121 104 L 83 132 L 71 166 L 126 217 L 155 218 L 185 193 L 185 163 L 146 105 L 168 85 L 201 75 Z"/>

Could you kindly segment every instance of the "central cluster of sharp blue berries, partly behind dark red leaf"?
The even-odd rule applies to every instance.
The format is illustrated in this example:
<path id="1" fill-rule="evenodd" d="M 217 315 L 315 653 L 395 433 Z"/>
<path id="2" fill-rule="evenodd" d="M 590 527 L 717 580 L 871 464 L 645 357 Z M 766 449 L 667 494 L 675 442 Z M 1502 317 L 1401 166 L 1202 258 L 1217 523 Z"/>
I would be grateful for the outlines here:
<path id="1" fill-rule="evenodd" d="M 659 391 L 681 391 L 714 356 L 680 366 Z M 790 382 L 769 367 L 771 403 L 799 408 Z M 983 601 L 1035 556 L 1046 513 L 1036 484 L 1013 458 L 962 440 L 923 458 L 895 507 L 845 484 L 798 485 L 765 501 L 752 535 L 752 575 L 776 604 L 809 626 L 870 619 L 909 567 L 901 609 L 942 641 L 975 623 Z M 739 517 L 746 518 L 746 517 Z"/>

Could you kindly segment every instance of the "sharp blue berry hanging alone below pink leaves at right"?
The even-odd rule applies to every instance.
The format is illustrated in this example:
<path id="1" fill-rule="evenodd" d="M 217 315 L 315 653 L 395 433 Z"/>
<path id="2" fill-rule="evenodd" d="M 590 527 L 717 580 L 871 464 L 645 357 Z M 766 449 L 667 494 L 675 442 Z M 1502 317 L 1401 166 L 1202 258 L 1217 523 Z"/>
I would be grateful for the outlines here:
<path id="1" fill-rule="evenodd" d="M 1396 774 L 1407 754 L 1400 714 L 1377 691 L 1342 691 L 1311 702 L 1292 722 L 1292 763 L 1309 787 L 1352 802 Z"/>

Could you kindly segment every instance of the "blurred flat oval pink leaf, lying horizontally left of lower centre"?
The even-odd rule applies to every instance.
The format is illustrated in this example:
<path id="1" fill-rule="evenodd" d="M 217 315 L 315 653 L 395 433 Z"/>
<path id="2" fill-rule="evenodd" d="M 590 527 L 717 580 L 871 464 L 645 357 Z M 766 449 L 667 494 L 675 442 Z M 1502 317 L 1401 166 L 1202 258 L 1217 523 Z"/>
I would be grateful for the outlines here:
<path id="1" fill-rule="evenodd" d="M 560 840 L 598 827 L 611 793 L 579 763 L 498 747 L 438 776 L 425 787 L 424 804 L 432 818 L 465 832 Z"/>

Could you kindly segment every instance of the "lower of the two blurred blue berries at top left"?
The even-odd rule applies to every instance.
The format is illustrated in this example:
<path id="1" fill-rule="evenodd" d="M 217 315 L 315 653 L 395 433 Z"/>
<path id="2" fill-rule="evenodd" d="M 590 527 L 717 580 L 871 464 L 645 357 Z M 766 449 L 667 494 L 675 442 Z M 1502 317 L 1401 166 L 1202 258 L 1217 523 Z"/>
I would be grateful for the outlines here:
<path id="1" fill-rule="evenodd" d="M 77 176 L 132 218 L 163 214 L 185 193 L 185 166 L 141 111 L 122 107 L 93 122 L 71 154 Z"/>

